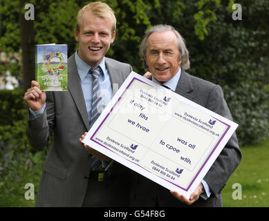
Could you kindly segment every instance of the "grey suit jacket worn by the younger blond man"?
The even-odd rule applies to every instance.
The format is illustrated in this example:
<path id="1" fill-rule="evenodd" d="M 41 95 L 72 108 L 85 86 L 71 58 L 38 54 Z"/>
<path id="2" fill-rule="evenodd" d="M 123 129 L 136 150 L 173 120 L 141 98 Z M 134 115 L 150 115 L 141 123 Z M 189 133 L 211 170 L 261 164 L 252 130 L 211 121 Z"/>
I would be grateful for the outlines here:
<path id="1" fill-rule="evenodd" d="M 106 58 L 106 67 L 115 94 L 132 69 L 129 64 L 109 58 Z M 89 131 L 90 125 L 74 55 L 68 59 L 68 91 L 47 92 L 46 97 L 46 111 L 28 121 L 26 127 L 28 140 L 35 148 L 43 148 L 51 133 L 54 133 L 53 146 L 44 163 L 36 205 L 82 206 L 89 181 L 91 157 L 79 138 Z M 111 173 L 123 178 L 124 169 L 124 166 L 115 162 L 111 166 Z M 125 184 L 119 181 L 118 185 L 124 188 Z M 106 190 L 110 190 L 108 197 L 120 200 L 115 185 L 106 186 Z"/>

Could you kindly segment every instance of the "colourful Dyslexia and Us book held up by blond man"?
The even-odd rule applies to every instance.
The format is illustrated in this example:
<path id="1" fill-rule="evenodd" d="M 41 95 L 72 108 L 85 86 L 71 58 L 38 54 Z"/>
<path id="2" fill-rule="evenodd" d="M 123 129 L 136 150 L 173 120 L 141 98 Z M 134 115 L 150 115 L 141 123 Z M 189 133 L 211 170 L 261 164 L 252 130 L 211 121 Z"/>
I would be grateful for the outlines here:
<path id="1" fill-rule="evenodd" d="M 68 67 L 66 44 L 35 46 L 35 80 L 42 91 L 67 91 Z"/>

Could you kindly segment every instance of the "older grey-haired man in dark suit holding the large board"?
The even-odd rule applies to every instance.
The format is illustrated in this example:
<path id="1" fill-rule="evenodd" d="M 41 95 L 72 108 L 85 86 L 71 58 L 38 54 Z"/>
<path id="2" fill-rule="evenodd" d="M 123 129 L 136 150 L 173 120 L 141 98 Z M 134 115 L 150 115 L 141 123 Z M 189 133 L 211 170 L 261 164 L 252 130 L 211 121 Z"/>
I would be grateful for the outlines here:
<path id="1" fill-rule="evenodd" d="M 189 52 L 183 37 L 173 27 L 152 27 L 142 40 L 140 52 L 145 66 L 152 75 L 152 81 L 223 117 L 232 119 L 221 87 L 185 72 L 189 68 Z M 240 161 L 241 151 L 234 133 L 189 199 L 175 191 L 169 193 L 162 186 L 134 173 L 131 205 L 222 206 L 221 190 Z"/>

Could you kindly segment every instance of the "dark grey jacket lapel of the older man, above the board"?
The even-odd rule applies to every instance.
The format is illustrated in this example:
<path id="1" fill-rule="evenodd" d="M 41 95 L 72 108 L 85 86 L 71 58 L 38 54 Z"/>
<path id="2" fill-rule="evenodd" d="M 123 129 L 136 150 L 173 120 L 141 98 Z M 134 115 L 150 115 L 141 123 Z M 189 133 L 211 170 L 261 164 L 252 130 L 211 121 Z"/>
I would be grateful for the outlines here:
<path id="1" fill-rule="evenodd" d="M 180 79 L 176 86 L 176 93 L 192 100 L 192 90 L 194 90 L 194 87 L 192 86 L 191 77 L 183 69 L 181 69 Z"/>

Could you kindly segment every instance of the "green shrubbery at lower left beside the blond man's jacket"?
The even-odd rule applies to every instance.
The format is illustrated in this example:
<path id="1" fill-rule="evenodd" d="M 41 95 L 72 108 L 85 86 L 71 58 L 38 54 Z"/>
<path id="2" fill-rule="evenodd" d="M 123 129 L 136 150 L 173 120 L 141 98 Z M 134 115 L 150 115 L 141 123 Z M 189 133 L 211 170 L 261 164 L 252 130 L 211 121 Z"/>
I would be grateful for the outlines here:
<path id="1" fill-rule="evenodd" d="M 24 186 L 35 186 L 35 198 L 47 148 L 34 152 L 26 137 L 28 108 L 24 91 L 0 90 L 0 206 L 34 206 Z"/>

